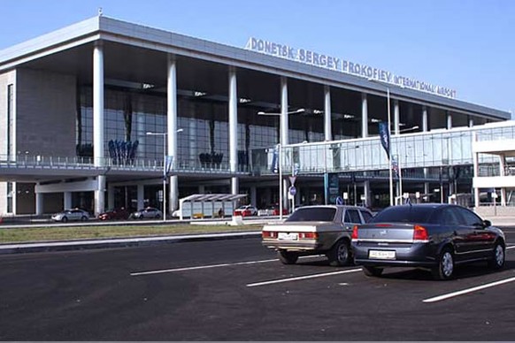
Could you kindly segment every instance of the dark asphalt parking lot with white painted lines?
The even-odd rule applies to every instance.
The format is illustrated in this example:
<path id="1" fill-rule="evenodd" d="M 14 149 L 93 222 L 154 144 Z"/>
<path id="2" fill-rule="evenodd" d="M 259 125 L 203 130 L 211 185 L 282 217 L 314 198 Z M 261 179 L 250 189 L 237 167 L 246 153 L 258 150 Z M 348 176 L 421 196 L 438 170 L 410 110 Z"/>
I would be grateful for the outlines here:
<path id="1" fill-rule="evenodd" d="M 281 264 L 258 239 L 0 256 L 2 340 L 515 340 L 515 229 L 503 271 L 367 278 Z"/>

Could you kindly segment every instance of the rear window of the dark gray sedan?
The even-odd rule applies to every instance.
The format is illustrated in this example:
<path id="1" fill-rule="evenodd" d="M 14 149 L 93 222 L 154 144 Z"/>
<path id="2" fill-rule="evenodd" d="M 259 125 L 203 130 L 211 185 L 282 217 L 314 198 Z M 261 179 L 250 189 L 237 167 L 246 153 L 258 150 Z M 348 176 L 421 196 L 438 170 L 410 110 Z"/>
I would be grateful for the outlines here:
<path id="1" fill-rule="evenodd" d="M 432 223 L 432 207 L 393 206 L 380 211 L 372 218 L 371 223 Z"/>

